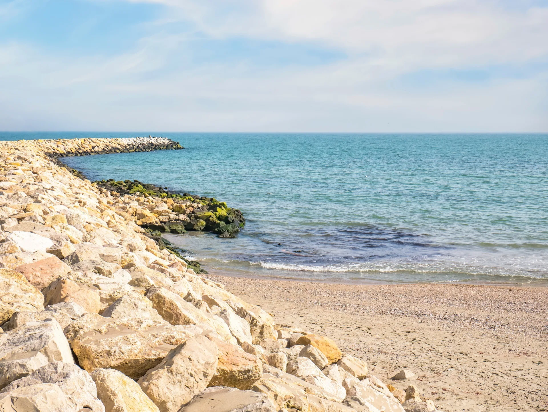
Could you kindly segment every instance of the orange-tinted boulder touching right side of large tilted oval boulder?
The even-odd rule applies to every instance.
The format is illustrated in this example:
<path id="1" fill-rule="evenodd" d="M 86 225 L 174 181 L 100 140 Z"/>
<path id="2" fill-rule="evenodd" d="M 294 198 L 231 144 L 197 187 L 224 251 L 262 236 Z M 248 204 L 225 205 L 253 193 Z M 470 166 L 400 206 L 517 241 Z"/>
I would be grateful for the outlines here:
<path id="1" fill-rule="evenodd" d="M 219 362 L 208 386 L 230 386 L 247 390 L 260 379 L 262 363 L 258 357 L 244 352 L 237 345 L 209 335 L 208 337 L 216 343 L 219 351 Z"/>

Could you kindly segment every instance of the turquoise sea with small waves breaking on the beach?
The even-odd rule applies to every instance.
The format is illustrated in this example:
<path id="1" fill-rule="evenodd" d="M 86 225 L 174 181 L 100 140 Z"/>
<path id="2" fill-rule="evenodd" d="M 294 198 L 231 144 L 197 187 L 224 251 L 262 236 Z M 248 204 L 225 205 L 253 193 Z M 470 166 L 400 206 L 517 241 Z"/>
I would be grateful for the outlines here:
<path id="1" fill-rule="evenodd" d="M 163 136 L 185 150 L 69 157 L 242 210 L 238 239 L 166 237 L 210 272 L 366 282 L 548 282 L 546 134 L 0 133 Z M 13 136 L 12 136 L 13 135 Z"/>

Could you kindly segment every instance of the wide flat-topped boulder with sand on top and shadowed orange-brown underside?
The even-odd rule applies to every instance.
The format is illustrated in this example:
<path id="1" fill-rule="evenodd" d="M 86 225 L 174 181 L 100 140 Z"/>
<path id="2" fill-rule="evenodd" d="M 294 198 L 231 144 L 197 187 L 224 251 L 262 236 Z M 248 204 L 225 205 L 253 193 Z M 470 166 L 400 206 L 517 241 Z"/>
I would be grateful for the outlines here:
<path id="1" fill-rule="evenodd" d="M 92 372 L 111 368 L 139 379 L 175 346 L 200 335 L 196 325 L 169 325 L 152 319 L 105 318 L 87 313 L 65 328 L 79 364 Z"/>

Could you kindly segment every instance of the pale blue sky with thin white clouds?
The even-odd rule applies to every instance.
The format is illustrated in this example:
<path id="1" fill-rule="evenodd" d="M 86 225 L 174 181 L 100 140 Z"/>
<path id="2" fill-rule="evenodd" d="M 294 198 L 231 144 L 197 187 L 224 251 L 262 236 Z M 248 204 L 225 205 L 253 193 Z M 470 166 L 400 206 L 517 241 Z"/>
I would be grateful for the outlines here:
<path id="1" fill-rule="evenodd" d="M 0 130 L 548 132 L 548 0 L 0 0 Z"/>

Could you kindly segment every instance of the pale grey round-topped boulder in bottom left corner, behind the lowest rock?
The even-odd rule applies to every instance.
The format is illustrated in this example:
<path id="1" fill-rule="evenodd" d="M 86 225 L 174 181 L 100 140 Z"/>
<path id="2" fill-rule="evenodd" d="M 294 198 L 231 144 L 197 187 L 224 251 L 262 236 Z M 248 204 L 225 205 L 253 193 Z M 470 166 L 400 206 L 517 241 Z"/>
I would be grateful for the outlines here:
<path id="1" fill-rule="evenodd" d="M 95 383 L 89 374 L 85 370 L 78 368 L 75 364 L 63 362 L 48 363 L 36 369 L 30 375 L 10 383 L 0 393 L 0 405 L 2 404 L 3 396 L 14 399 L 20 397 L 21 393 L 26 393 L 27 396 L 29 393 L 33 393 L 33 397 L 36 397 L 36 394 L 42 391 L 52 393 L 50 385 L 55 385 L 60 389 L 60 393 L 59 391 L 55 391 L 54 393 L 62 399 L 61 404 L 65 403 L 66 405 L 65 409 L 61 409 L 59 412 L 76 412 L 83 408 L 88 408 L 92 412 L 105 412 L 105 407 L 97 398 Z M 42 399 L 44 398 L 49 397 L 46 396 Z M 51 399 L 51 401 L 53 403 L 59 402 L 58 399 Z M 27 409 L 27 411 L 30 410 L 32 409 Z M 38 409 L 40 412 L 43 410 L 55 409 Z"/>

